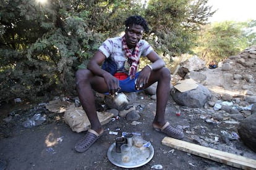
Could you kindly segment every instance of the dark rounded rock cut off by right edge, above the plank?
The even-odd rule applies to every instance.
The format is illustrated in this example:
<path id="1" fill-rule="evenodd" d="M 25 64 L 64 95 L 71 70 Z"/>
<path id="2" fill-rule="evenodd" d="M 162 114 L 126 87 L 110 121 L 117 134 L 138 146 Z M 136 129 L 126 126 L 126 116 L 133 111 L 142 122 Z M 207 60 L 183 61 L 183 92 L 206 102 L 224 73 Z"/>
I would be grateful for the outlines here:
<path id="1" fill-rule="evenodd" d="M 242 120 L 238 127 L 237 131 L 239 136 L 249 148 L 251 148 L 254 152 L 256 152 L 256 114 L 252 114 Z"/>

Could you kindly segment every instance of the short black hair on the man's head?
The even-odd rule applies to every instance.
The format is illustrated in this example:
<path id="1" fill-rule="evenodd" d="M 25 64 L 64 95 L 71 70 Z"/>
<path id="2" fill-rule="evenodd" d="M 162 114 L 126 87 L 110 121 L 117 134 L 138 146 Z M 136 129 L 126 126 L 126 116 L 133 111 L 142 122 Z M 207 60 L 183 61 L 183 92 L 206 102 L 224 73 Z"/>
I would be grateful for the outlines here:
<path id="1" fill-rule="evenodd" d="M 124 22 L 124 25 L 126 25 L 126 27 L 132 26 L 134 24 L 141 25 L 146 33 L 149 31 L 148 23 L 142 16 L 133 15 L 133 16 L 128 17 L 126 19 L 126 21 Z"/>

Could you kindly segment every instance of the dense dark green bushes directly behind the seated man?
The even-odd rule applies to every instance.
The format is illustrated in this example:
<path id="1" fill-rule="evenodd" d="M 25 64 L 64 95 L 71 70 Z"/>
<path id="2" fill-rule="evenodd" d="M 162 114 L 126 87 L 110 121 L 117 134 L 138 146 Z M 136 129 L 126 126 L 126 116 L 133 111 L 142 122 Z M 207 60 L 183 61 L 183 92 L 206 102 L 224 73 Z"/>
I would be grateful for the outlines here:
<path id="1" fill-rule="evenodd" d="M 190 51 L 213 12 L 207 0 L 0 0 L 0 100 L 75 94 L 74 73 L 100 44 L 124 31 L 129 15 L 151 26 L 145 39 L 159 54 Z"/>

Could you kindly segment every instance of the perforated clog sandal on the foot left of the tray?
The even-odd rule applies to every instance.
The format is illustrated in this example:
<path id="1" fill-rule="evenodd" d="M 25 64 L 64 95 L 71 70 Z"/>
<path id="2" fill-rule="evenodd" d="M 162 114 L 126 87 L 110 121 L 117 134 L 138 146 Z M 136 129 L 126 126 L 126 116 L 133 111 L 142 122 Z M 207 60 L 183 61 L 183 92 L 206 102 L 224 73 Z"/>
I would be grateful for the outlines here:
<path id="1" fill-rule="evenodd" d="M 89 129 L 87 134 L 75 144 L 75 150 L 81 153 L 87 151 L 99 137 L 100 135 L 97 132 L 93 131 L 93 129 Z"/>

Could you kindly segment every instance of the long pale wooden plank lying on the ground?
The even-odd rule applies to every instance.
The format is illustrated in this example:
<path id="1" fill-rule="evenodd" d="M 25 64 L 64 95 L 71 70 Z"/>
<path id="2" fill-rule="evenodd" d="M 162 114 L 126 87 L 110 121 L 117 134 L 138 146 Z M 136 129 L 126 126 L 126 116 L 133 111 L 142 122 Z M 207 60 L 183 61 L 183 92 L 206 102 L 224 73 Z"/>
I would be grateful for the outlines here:
<path id="1" fill-rule="evenodd" d="M 191 144 L 189 142 L 164 137 L 162 144 L 168 147 L 176 148 L 193 155 L 201 156 L 219 163 L 228 164 L 241 169 L 256 169 L 256 160 L 245 158 L 244 156 L 235 155 L 233 153 L 215 150 L 213 148 L 203 147 L 201 145 Z"/>

